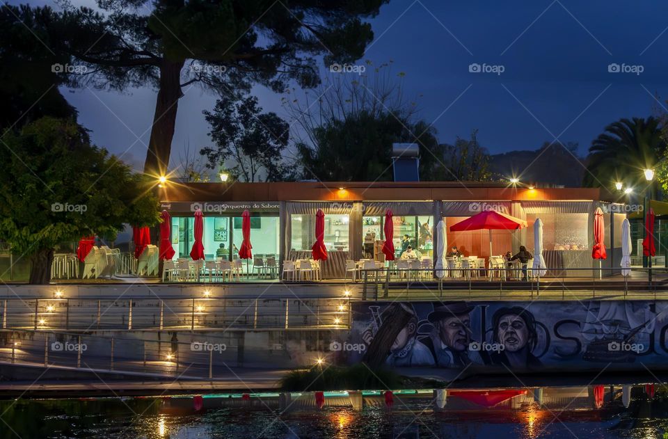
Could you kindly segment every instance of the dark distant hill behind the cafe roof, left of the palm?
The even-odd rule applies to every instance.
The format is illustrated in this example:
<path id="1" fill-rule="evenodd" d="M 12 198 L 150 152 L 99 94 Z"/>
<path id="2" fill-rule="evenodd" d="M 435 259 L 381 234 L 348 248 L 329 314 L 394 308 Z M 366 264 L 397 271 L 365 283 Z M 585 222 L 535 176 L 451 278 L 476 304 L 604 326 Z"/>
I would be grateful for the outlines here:
<path id="1" fill-rule="evenodd" d="M 578 156 L 578 143 L 544 143 L 536 151 L 494 154 L 489 168 L 500 177 L 516 176 L 525 183 L 547 183 L 566 187 L 582 186 L 585 159 Z"/>

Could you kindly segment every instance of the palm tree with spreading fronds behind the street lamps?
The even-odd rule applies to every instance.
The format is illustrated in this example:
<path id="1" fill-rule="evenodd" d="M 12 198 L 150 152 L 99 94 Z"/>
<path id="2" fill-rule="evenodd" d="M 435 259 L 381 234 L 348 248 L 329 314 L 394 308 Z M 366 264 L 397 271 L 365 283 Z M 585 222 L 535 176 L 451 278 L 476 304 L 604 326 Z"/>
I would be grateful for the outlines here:
<path id="1" fill-rule="evenodd" d="M 621 119 L 605 127 L 589 147 L 585 186 L 610 189 L 614 182 L 625 186 L 643 184 L 644 168 L 654 168 L 666 148 L 656 118 Z M 646 184 L 646 183 L 645 183 Z"/>

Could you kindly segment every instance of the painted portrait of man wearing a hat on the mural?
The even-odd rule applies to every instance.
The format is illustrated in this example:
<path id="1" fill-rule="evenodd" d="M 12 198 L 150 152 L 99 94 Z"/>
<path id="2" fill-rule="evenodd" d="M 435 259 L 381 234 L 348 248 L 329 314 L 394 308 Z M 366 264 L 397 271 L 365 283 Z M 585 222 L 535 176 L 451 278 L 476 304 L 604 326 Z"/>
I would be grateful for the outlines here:
<path id="1" fill-rule="evenodd" d="M 434 325 L 424 340 L 434 354 L 438 367 L 461 368 L 471 362 L 482 364 L 479 352 L 469 351 L 471 342 L 470 312 L 475 306 L 466 302 L 435 303 L 427 319 Z"/>

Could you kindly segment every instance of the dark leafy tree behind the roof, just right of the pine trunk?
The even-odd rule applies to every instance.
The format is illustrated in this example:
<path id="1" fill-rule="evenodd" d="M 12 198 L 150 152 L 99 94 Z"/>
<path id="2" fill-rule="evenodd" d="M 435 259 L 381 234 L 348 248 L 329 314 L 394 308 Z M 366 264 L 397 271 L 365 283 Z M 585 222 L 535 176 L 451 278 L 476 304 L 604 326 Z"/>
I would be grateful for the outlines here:
<path id="1" fill-rule="evenodd" d="M 263 113 L 257 97 L 223 97 L 214 111 L 204 111 L 215 147 L 202 148 L 207 167 L 230 166 L 232 177 L 243 182 L 289 179 L 283 160 L 290 126 L 276 113 Z"/>

